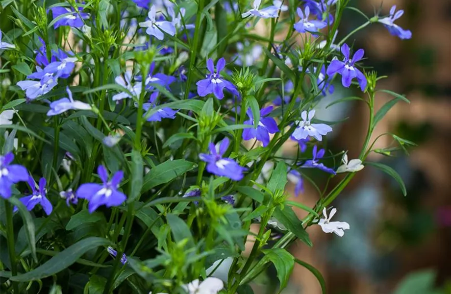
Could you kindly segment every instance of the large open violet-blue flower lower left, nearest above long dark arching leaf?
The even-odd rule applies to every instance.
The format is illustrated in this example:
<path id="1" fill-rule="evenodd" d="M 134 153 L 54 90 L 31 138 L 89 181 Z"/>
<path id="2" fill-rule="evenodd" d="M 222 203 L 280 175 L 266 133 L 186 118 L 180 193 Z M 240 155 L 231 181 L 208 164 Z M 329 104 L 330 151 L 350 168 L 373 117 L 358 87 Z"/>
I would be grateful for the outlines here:
<path id="1" fill-rule="evenodd" d="M 118 191 L 124 172 L 116 172 L 111 181 L 108 181 L 108 174 L 104 166 L 100 165 L 97 168 L 97 173 L 103 182 L 102 184 L 82 184 L 76 192 L 78 198 L 84 198 L 89 201 L 89 213 L 93 213 L 100 205 L 106 205 L 106 207 L 120 206 L 127 198 L 124 193 Z"/>

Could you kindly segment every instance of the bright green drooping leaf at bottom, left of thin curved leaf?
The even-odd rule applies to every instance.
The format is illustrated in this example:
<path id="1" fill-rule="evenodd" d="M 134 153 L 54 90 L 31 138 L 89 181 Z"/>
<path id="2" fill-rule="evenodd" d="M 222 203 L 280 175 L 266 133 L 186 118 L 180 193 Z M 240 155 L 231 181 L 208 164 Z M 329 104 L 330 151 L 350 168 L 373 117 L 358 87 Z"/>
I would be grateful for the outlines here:
<path id="1" fill-rule="evenodd" d="M 280 281 L 279 293 L 287 286 L 291 272 L 295 266 L 295 258 L 283 248 L 264 249 L 263 259 L 271 261 L 277 270 L 277 278 Z"/>

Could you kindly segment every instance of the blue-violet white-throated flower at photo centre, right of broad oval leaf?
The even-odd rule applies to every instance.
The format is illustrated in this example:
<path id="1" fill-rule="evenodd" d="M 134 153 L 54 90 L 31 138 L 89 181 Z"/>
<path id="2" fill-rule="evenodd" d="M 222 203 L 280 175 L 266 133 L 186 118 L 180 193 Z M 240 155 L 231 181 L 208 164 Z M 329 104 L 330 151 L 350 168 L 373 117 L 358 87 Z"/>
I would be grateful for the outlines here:
<path id="1" fill-rule="evenodd" d="M 207 172 L 239 181 L 244 177 L 243 172 L 247 169 L 240 166 L 233 159 L 222 157 L 227 150 L 229 143 L 229 139 L 224 138 L 219 145 L 218 150 L 213 143 L 210 143 L 210 154 L 200 153 L 199 158 L 207 163 Z"/>

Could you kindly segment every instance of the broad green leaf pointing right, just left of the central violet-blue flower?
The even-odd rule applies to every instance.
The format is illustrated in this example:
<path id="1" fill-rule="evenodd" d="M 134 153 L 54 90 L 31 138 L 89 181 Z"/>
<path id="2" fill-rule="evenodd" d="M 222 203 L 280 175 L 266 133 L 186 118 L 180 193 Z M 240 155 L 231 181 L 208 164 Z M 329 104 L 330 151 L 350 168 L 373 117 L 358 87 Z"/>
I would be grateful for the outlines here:
<path id="1" fill-rule="evenodd" d="M 151 169 L 150 172 L 144 176 L 142 193 L 147 192 L 158 185 L 168 183 L 194 168 L 194 163 L 184 159 L 165 161 Z"/>

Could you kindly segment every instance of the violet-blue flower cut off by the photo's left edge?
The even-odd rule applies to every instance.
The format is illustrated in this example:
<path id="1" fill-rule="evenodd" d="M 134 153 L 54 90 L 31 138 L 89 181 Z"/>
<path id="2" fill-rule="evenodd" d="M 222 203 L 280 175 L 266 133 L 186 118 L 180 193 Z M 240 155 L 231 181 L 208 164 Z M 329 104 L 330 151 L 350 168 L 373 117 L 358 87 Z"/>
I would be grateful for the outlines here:
<path id="1" fill-rule="evenodd" d="M 28 171 L 18 164 L 11 164 L 14 160 L 12 152 L 0 155 L 0 196 L 11 197 L 11 186 L 17 182 L 28 180 Z"/>

